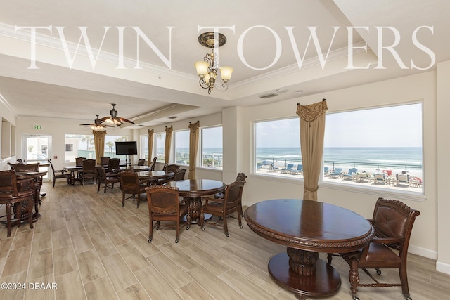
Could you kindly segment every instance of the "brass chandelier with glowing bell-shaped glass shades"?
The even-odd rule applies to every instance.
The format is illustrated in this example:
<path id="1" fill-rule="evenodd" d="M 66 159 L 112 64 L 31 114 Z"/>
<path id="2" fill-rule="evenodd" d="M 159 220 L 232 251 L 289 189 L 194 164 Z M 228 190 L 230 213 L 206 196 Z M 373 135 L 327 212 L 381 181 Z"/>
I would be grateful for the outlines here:
<path id="1" fill-rule="evenodd" d="M 226 37 L 224 34 L 219 32 L 205 32 L 200 34 L 198 37 L 198 42 L 202 46 L 212 48 L 211 53 L 207 53 L 202 61 L 197 61 L 194 63 L 198 77 L 200 77 L 200 86 L 203 89 L 208 89 L 208 93 L 211 93 L 214 87 L 218 91 L 226 91 L 226 89 L 228 89 L 227 83 L 231 79 L 231 74 L 233 74 L 233 68 L 225 66 L 220 67 L 218 63 L 219 58 L 217 53 L 214 52 L 215 48 L 223 46 L 226 43 Z M 223 82 L 216 81 L 217 70 L 220 70 L 220 75 Z"/>

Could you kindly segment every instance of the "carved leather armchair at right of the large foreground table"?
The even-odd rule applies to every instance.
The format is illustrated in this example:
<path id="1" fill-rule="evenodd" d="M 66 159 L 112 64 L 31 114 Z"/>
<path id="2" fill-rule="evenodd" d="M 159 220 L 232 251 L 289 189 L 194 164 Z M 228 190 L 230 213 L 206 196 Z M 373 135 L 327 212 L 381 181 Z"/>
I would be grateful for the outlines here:
<path id="1" fill-rule="evenodd" d="M 371 243 L 360 251 L 339 254 L 349 263 L 349 278 L 356 279 L 350 281 L 353 299 L 359 299 L 356 296 L 358 287 L 401 287 L 405 299 L 411 299 L 406 275 L 406 257 L 413 224 L 419 214 L 419 211 L 398 200 L 378 198 L 373 217 L 369 220 L 375 229 L 375 237 Z M 332 254 L 328 254 L 328 263 L 331 264 L 331 260 Z M 398 269 L 400 282 L 379 282 L 380 278 L 369 273 L 368 268 L 375 268 L 378 275 L 381 274 L 382 268 Z M 359 269 L 364 270 L 374 282 L 359 282 Z"/>

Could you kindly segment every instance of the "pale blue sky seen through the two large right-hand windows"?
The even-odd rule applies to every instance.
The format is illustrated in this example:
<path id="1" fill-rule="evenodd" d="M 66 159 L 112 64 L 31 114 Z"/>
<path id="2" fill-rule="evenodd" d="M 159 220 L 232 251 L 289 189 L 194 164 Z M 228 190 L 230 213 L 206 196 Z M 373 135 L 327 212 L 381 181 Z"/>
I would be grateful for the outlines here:
<path id="1" fill-rule="evenodd" d="M 299 147 L 298 117 L 256 124 L 257 147 Z M 328 113 L 324 147 L 421 147 L 420 103 Z"/>

